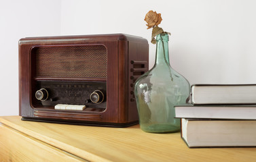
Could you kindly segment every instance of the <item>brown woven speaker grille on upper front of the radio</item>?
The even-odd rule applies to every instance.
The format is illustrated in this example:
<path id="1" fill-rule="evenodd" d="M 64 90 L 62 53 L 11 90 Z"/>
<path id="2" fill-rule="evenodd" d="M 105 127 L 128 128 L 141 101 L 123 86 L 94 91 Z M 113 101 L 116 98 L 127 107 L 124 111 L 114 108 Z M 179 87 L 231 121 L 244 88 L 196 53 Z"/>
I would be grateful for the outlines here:
<path id="1" fill-rule="evenodd" d="M 35 47 L 35 75 L 54 78 L 106 78 L 103 45 Z"/>

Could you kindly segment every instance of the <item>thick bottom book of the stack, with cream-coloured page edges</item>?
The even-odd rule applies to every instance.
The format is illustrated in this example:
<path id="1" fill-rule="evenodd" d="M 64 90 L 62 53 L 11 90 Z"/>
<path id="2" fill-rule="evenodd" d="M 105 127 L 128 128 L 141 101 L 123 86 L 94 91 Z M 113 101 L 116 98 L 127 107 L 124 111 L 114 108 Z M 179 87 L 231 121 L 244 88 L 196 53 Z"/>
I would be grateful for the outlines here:
<path id="1" fill-rule="evenodd" d="M 256 146 L 255 120 L 181 119 L 181 138 L 189 147 Z"/>

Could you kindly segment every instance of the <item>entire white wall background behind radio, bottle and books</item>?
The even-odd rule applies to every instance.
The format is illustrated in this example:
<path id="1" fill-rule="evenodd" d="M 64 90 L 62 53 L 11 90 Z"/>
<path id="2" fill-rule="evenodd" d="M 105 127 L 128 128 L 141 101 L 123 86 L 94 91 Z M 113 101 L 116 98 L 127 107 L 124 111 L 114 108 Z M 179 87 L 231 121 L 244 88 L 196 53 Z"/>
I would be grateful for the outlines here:
<path id="1" fill-rule="evenodd" d="M 126 33 L 150 41 L 151 29 L 144 22 L 150 9 L 162 14 L 160 27 L 172 33 L 172 68 L 191 84 L 256 84 L 255 6 L 254 0 L 4 1 L 0 115 L 18 114 L 19 38 Z M 156 46 L 149 43 L 149 47 L 152 67 Z"/>

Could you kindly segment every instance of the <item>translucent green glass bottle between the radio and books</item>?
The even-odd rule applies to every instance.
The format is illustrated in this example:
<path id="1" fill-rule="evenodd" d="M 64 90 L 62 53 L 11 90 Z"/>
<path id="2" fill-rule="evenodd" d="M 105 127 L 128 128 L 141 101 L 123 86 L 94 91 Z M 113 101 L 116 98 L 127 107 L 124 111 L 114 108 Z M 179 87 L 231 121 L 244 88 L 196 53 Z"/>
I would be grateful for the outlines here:
<path id="1" fill-rule="evenodd" d="M 145 132 L 177 132 L 180 119 L 175 118 L 175 105 L 187 103 L 190 85 L 170 67 L 168 34 L 158 34 L 156 41 L 155 65 L 134 86 L 139 122 Z"/>

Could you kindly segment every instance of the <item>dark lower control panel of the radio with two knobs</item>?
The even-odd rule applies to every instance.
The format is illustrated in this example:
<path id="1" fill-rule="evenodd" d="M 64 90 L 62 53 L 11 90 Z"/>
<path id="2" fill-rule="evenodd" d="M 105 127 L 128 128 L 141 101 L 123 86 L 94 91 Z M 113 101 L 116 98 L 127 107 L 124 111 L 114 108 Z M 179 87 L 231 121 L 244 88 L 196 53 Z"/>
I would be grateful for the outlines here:
<path id="1" fill-rule="evenodd" d="M 106 82 L 37 81 L 32 96 L 33 106 L 51 106 L 56 109 L 58 105 L 57 109 L 62 109 L 65 105 L 68 109 L 75 109 L 72 106 L 84 105 L 105 109 L 106 86 Z"/>

